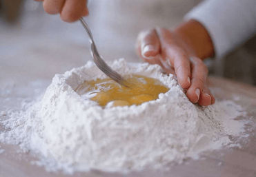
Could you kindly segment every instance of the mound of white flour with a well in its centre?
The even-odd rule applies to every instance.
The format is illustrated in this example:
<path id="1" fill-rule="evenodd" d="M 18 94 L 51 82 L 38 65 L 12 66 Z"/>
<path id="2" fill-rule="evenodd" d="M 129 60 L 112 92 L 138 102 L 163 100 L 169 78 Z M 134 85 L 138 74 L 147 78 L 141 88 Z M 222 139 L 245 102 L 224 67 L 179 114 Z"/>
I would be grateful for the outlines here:
<path id="1" fill-rule="evenodd" d="M 10 115 L 0 140 L 35 152 L 53 170 L 123 171 L 197 158 L 205 150 L 232 145 L 228 136 L 242 131 L 243 124 L 233 120 L 241 116 L 241 107 L 231 101 L 199 107 L 157 65 L 119 59 L 111 66 L 120 74 L 159 79 L 170 90 L 141 105 L 102 108 L 74 91 L 83 81 L 105 77 L 88 62 L 57 74 L 40 101 Z"/>

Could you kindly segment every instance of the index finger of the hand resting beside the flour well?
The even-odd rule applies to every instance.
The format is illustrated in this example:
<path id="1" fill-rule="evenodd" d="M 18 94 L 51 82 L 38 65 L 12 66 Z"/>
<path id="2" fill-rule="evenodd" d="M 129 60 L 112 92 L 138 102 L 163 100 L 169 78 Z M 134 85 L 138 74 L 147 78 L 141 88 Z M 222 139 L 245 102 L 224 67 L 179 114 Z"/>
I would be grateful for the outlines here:
<path id="1" fill-rule="evenodd" d="M 184 50 L 173 44 L 173 35 L 169 30 L 157 28 L 157 34 L 161 43 L 161 53 L 170 60 L 175 69 L 179 85 L 185 90 L 190 87 L 190 61 Z"/>

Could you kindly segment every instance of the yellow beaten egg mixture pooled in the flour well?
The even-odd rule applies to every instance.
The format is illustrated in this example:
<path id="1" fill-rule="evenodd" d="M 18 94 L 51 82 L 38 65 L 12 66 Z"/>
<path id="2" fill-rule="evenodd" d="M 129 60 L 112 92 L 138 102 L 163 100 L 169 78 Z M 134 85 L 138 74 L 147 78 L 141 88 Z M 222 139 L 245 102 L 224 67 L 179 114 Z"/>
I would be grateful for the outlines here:
<path id="1" fill-rule="evenodd" d="M 97 79 L 85 81 L 75 90 L 78 94 L 88 94 L 92 101 L 102 107 L 140 105 L 146 101 L 156 100 L 160 93 L 166 93 L 169 88 L 157 79 L 141 75 L 132 75 L 126 79 L 128 87 L 120 85 L 112 79 Z"/>

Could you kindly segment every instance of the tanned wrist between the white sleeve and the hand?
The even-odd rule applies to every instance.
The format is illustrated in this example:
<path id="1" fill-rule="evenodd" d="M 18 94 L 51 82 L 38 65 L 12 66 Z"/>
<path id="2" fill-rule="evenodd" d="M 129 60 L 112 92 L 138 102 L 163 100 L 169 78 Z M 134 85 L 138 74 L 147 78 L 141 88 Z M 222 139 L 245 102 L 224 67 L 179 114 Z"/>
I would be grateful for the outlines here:
<path id="1" fill-rule="evenodd" d="M 214 55 L 213 41 L 206 28 L 198 21 L 186 21 L 175 28 L 174 32 L 200 59 L 206 59 Z"/>

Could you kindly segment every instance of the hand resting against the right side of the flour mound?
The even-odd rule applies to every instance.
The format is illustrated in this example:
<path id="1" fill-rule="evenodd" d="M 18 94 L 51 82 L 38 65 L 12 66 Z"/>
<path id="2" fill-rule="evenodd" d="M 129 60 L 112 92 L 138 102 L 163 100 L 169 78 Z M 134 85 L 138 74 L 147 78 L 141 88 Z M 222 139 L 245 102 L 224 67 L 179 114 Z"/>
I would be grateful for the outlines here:
<path id="1" fill-rule="evenodd" d="M 139 34 L 137 52 L 141 59 L 157 63 L 164 70 L 169 70 L 166 65 L 173 67 L 179 85 L 192 103 L 211 105 L 215 98 L 206 85 L 208 69 L 198 57 L 200 50 L 196 51 L 189 44 L 177 32 L 155 28 Z"/>

